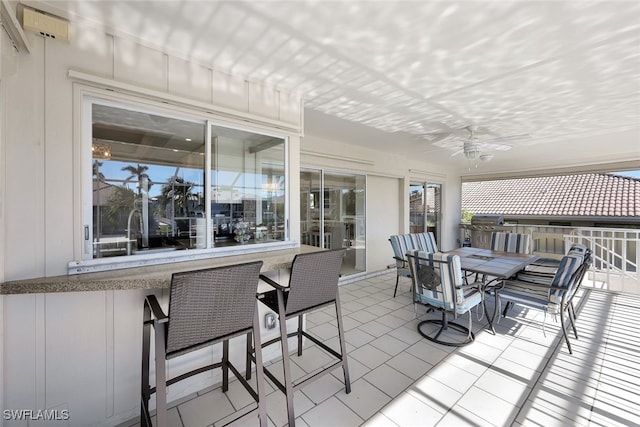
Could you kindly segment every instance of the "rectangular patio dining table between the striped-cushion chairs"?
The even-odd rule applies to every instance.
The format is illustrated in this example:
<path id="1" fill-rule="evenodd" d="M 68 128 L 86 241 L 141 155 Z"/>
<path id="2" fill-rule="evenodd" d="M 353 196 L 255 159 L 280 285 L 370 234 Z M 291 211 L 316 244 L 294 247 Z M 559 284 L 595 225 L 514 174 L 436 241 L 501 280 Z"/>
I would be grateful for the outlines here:
<path id="1" fill-rule="evenodd" d="M 527 265 L 537 260 L 538 256 L 473 247 L 457 248 L 447 253 L 460 256 L 460 265 L 463 271 L 475 273 L 477 277 L 482 276 L 482 279 L 477 282 L 483 293 L 494 290 L 496 307 L 489 325 L 491 331 L 495 333 L 493 319 L 496 315 L 499 290 L 493 285 L 523 270 Z M 487 280 L 487 278 L 490 279 Z M 487 307 L 484 298 L 482 299 L 482 305 L 486 313 Z"/>

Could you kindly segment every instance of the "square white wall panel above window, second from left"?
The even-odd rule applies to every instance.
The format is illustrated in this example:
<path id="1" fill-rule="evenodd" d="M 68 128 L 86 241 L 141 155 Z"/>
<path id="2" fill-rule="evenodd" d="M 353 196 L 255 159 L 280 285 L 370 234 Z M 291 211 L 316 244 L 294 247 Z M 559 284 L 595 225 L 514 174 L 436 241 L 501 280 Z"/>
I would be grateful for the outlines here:
<path id="1" fill-rule="evenodd" d="M 126 40 L 114 39 L 114 78 L 149 89 L 166 91 L 167 56 L 155 49 Z"/>

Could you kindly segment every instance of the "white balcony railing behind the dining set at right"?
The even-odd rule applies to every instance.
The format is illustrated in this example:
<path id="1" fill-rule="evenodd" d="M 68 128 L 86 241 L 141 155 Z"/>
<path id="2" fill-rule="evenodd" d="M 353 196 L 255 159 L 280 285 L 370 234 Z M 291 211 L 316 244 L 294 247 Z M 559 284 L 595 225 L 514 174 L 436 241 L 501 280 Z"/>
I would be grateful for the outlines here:
<path id="1" fill-rule="evenodd" d="M 462 225 L 465 235 L 471 229 L 468 224 Z M 593 253 L 583 286 L 640 295 L 640 229 L 527 224 L 494 229 L 531 234 L 533 251 L 541 257 L 559 258 L 572 243 L 582 243 Z"/>

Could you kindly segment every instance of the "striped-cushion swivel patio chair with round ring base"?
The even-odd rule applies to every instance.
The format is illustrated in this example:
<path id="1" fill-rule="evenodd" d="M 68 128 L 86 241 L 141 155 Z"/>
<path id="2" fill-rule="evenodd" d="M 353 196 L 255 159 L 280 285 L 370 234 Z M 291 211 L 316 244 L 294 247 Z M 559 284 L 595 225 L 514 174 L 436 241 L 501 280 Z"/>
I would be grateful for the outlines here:
<path id="1" fill-rule="evenodd" d="M 460 257 L 442 252 L 407 251 L 413 282 L 415 303 L 440 311 L 440 319 L 427 319 L 418 324 L 418 332 L 426 339 L 447 346 L 463 346 L 471 343 L 475 335 L 471 329 L 471 310 L 482 304 L 483 294 L 476 283 L 466 284 L 462 276 Z M 468 313 L 467 327 L 449 320 Z M 488 317 L 488 316 L 487 316 Z M 491 327 L 491 319 L 489 326 Z M 440 328 L 435 333 L 424 331 L 428 324 Z M 448 329 L 465 334 L 462 340 L 444 340 L 440 336 Z"/>

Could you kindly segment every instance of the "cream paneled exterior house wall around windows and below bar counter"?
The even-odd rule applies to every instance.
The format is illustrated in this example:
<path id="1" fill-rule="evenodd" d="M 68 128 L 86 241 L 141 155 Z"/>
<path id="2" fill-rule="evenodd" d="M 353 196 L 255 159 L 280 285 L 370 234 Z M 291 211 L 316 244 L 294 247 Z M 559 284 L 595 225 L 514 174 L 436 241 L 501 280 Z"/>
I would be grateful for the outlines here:
<path id="1" fill-rule="evenodd" d="M 300 98 L 82 25 L 70 43 L 28 34 L 30 54 L 1 78 L 0 277 L 3 281 L 67 273 L 81 247 L 82 182 L 78 99 L 69 70 L 302 127 Z M 4 70 L 4 67 L 3 67 Z M 346 143 L 346 144 L 345 144 Z M 391 234 L 408 231 L 408 186 L 440 182 L 444 249 L 457 237 L 458 178 L 423 161 L 362 150 L 348 141 L 290 137 L 290 229 L 299 235 L 300 167 L 364 173 L 367 270 L 386 268 Z M 302 152 L 302 155 L 300 155 Z M 334 153 L 319 157 L 313 153 Z M 356 162 L 355 160 L 359 160 Z M 409 172 L 410 169 L 426 171 Z M 431 173 L 430 171 L 434 171 Z M 457 195 L 456 195 L 457 194 Z M 458 203 L 458 205 L 456 205 Z M 70 426 L 117 425 L 138 414 L 142 301 L 148 292 L 105 291 L 0 297 L 2 409 L 66 409 Z M 166 301 L 166 291 L 155 292 Z M 241 357 L 244 341 L 232 346 Z M 203 350 L 190 361 L 211 360 Z M 184 361 L 169 364 L 170 374 Z M 188 363 L 188 362 L 187 362 Z M 242 366 L 242 365 L 241 365 Z M 214 374 L 172 387 L 176 399 L 213 384 Z M 11 421 L 6 426 L 24 425 Z"/>

